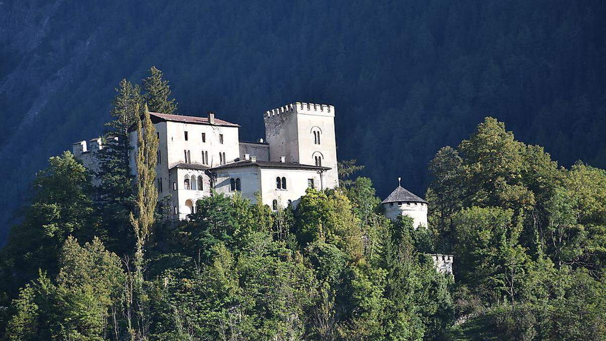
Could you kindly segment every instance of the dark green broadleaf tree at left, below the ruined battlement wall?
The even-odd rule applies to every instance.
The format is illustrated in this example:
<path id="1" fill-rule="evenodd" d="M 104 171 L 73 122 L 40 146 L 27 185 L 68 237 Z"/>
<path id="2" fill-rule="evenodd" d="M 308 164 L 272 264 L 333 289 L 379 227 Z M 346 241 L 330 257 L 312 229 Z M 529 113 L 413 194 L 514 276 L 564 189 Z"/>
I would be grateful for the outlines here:
<path id="1" fill-rule="evenodd" d="M 1 251 L 2 291 L 16 292 L 36 278 L 39 268 L 56 274 L 67 237 L 90 240 L 97 231 L 87 170 L 70 152 L 51 157 L 48 163 L 36 176 L 24 220 L 11 230 Z"/>

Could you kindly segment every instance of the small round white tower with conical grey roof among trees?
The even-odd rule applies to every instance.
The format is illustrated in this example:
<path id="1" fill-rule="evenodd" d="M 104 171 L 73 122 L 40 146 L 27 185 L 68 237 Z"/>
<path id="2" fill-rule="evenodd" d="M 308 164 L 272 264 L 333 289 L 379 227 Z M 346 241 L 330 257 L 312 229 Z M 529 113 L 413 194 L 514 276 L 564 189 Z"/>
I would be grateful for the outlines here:
<path id="1" fill-rule="evenodd" d="M 396 221 L 399 215 L 408 215 L 413 218 L 413 226 L 427 228 L 427 201 L 416 196 L 404 187 L 400 186 L 398 178 L 398 187 L 381 202 L 385 209 L 385 217 Z"/>

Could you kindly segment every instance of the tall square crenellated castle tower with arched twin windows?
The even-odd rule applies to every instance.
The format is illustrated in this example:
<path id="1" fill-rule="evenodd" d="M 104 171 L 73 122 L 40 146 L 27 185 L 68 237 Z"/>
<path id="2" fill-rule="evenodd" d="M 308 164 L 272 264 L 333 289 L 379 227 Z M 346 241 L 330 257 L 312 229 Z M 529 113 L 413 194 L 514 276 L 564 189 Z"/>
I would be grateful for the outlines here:
<path id="1" fill-rule="evenodd" d="M 295 102 L 265 112 L 265 140 L 270 161 L 330 167 L 322 187 L 339 185 L 335 139 L 335 107 Z"/>

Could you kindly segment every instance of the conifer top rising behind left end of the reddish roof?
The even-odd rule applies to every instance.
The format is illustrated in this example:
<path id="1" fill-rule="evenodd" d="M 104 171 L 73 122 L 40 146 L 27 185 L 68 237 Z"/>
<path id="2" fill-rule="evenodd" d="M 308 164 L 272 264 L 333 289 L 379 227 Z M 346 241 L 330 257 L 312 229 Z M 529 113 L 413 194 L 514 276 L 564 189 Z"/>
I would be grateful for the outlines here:
<path id="1" fill-rule="evenodd" d="M 150 75 L 143 79 L 145 102 L 151 112 L 177 114 L 177 103 L 170 98 L 171 91 L 168 81 L 162 79 L 162 71 L 155 66 L 150 68 Z"/>

